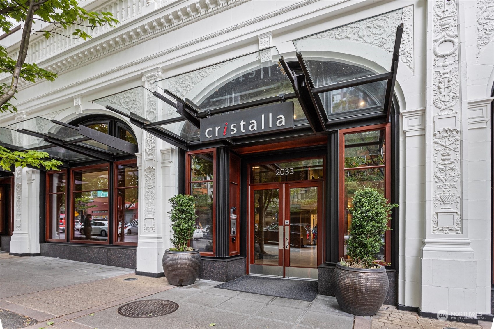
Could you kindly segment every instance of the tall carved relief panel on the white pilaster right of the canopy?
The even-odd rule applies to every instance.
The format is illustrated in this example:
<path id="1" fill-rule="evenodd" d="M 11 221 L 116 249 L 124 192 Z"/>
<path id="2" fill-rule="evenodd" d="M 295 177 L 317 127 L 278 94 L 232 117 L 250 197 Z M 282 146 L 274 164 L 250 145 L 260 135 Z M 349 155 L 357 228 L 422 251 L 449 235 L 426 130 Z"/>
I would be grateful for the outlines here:
<path id="1" fill-rule="evenodd" d="M 456 0 L 433 10 L 433 204 L 432 233 L 461 234 L 460 91 Z"/>

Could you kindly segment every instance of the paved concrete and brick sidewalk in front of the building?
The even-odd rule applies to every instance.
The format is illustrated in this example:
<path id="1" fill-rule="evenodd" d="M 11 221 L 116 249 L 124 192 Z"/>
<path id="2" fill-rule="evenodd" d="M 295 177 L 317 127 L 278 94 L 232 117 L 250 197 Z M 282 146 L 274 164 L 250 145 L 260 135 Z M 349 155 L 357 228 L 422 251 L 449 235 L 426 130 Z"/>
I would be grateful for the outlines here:
<path id="1" fill-rule="evenodd" d="M 175 287 L 165 278 L 136 276 L 128 269 L 41 256 L 0 254 L 0 278 L 0 308 L 40 321 L 24 327 L 30 329 L 491 327 L 490 323 L 481 327 L 433 321 L 393 307 L 372 318 L 355 318 L 342 312 L 329 296 L 319 295 L 307 302 L 214 288 L 220 283 L 206 280 Z M 124 281 L 127 278 L 138 280 Z M 141 299 L 171 300 L 179 308 L 154 318 L 118 314 L 121 305 Z"/>

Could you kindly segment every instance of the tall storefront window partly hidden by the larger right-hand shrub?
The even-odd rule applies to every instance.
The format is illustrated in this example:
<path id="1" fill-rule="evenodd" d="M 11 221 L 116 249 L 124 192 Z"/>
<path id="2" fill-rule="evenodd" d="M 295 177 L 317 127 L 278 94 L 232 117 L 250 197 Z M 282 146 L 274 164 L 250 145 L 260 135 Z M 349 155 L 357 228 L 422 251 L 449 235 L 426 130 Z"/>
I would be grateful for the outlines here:
<path id="1" fill-rule="evenodd" d="M 382 125 L 381 125 L 382 126 Z M 350 129 L 349 129 L 350 130 Z M 352 131 L 353 130 L 353 131 Z M 382 126 L 380 129 L 355 131 L 342 131 L 340 133 L 340 143 L 342 143 L 344 154 L 340 164 L 342 167 L 341 174 L 343 186 L 343 200 L 341 200 L 340 213 L 343 215 L 341 221 L 342 254 L 347 256 L 346 242 L 350 234 L 350 225 L 352 215 L 348 208 L 352 206 L 352 198 L 359 189 L 372 187 L 377 189 L 386 198 L 389 199 L 389 182 L 388 173 L 388 148 L 386 144 L 386 134 L 389 131 L 388 126 Z M 340 153 L 340 154 L 341 154 Z M 382 236 L 385 243 L 376 255 L 376 259 L 381 262 L 389 262 L 390 259 L 390 235 L 389 232 Z"/>

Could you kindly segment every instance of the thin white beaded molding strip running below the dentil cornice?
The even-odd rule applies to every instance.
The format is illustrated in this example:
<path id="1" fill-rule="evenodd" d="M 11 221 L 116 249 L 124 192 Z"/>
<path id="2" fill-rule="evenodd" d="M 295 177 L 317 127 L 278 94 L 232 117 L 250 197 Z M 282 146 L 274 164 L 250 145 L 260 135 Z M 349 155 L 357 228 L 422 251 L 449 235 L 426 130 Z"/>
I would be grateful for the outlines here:
<path id="1" fill-rule="evenodd" d="M 37 100 L 37 99 L 40 99 L 40 98 L 43 98 L 45 96 L 49 96 L 49 95 L 53 95 L 57 92 L 60 92 L 60 91 L 63 91 L 63 90 L 67 90 L 67 89 L 70 89 L 72 87 L 76 87 L 78 85 L 81 85 L 82 83 L 86 83 L 86 82 L 90 82 L 90 81 L 93 81 L 95 79 L 98 79 L 98 78 L 101 78 L 101 77 L 104 77 L 104 76 L 107 76 L 109 74 L 112 74 L 114 72 L 118 72 L 118 71 L 121 71 L 121 70 L 124 70 L 128 67 L 131 67 L 131 66 L 134 66 L 134 65 L 137 65 L 137 64 L 140 64 L 140 63 L 143 63 L 143 62 L 146 62 L 148 60 L 151 60 L 151 59 L 154 59 L 154 58 L 157 58 L 157 57 L 161 57 L 161 56 L 164 56 L 168 53 L 171 53 L 173 51 L 177 51 L 179 49 L 182 49 L 182 48 L 186 48 L 188 46 L 191 46 L 191 45 L 194 45 L 194 44 L 197 44 L 197 43 L 200 43 L 200 42 L 203 42 L 203 41 L 206 41 L 206 40 L 209 40 L 209 39 L 212 39 L 212 38 L 215 38 L 215 37 L 218 37 L 218 36 L 221 36 L 221 35 L 224 35 L 224 34 L 227 34 L 229 32 L 232 32 L 232 31 L 236 31 L 236 30 L 239 30 L 239 29 L 242 29 L 246 26 L 249 26 L 251 24 L 255 24 L 255 23 L 258 23 L 258 22 L 261 22 L 263 20 L 266 20 L 266 19 L 269 19 L 269 18 L 272 18 L 272 17 L 276 17 L 278 15 L 282 15 L 284 13 L 287 13 L 291 10 L 294 10 L 294 9 L 297 9 L 297 8 L 300 8 L 300 7 L 303 7 L 303 6 L 306 6 L 308 4 L 311 4 L 311 3 L 314 3 L 316 1 L 319 1 L 319 0 L 303 0 L 303 1 L 300 1 L 300 2 L 297 2 L 297 3 L 294 3 L 294 4 L 291 4 L 289 6 L 286 6 L 286 7 L 283 7 L 283 8 L 280 8 L 278 10 L 275 10 L 271 13 L 268 13 L 268 14 L 265 14 L 265 15 L 261 15 L 261 16 L 258 16 L 258 17 L 255 17 L 255 18 L 252 18 L 252 19 L 249 19 L 247 21 L 244 21 L 242 23 L 239 23 L 239 24 L 236 24 L 234 26 L 231 26 L 229 28 L 226 28 L 226 29 L 223 29 L 223 30 L 219 30 L 219 31 L 216 31 L 214 33 L 211 33 L 207 36 L 204 36 L 204 37 L 201 37 L 201 38 L 197 38 L 197 39 L 194 39 L 194 40 L 191 40 L 191 41 L 188 41 L 188 42 L 185 42 L 185 43 L 182 43 L 182 44 L 179 44 L 179 45 L 176 45 L 174 47 L 171 47 L 171 48 L 168 48 L 168 49 L 165 49 L 163 51 L 160 51 L 160 52 L 157 52 L 155 54 L 152 54 L 152 55 L 149 55 L 149 56 L 146 56 L 146 57 L 143 57 L 141 59 L 138 59 L 138 60 L 135 60 L 135 61 L 132 61 L 132 62 L 129 62 L 127 64 L 124 64 L 124 65 L 121 65 L 119 67 L 116 67 L 114 69 L 111 69 L 111 70 L 108 70 L 108 71 L 105 71 L 105 72 L 102 72 L 102 73 L 99 73 L 97 75 L 94 75 L 92 77 L 89 77 L 87 79 L 83 79 L 79 82 L 75 82 L 75 83 L 71 83 L 71 84 L 67 84 L 61 88 L 58 88 L 58 89 L 55 89 L 55 90 L 51 90 L 51 91 L 48 91 L 47 93 L 44 93 L 40 96 L 36 96 L 36 97 L 33 97 L 33 98 L 30 98 L 30 99 L 27 99 L 25 101 L 22 101 L 22 102 L 19 102 L 17 104 L 15 104 L 16 106 L 21 106 L 21 105 L 24 105 L 24 104 L 27 104 L 29 102 L 32 102 L 34 100 Z"/>

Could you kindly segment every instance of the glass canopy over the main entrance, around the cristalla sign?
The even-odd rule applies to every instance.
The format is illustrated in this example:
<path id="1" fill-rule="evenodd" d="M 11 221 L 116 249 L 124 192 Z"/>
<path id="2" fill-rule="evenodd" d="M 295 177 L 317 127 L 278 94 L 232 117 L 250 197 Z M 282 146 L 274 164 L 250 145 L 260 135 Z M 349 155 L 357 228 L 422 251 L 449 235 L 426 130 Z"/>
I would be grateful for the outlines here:
<path id="1" fill-rule="evenodd" d="M 354 120 L 388 122 L 402 13 L 394 10 L 294 40 L 298 63 L 270 47 L 94 102 L 185 150 L 264 140 L 199 141 L 201 120 L 277 102 L 293 102 L 294 129 L 274 132 L 276 138 L 326 132 Z"/>

